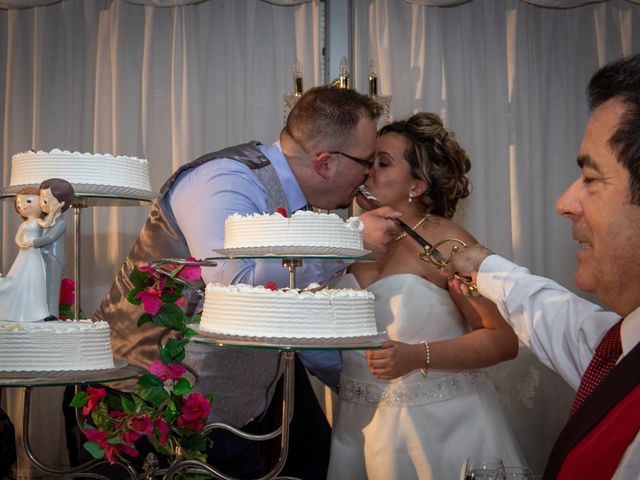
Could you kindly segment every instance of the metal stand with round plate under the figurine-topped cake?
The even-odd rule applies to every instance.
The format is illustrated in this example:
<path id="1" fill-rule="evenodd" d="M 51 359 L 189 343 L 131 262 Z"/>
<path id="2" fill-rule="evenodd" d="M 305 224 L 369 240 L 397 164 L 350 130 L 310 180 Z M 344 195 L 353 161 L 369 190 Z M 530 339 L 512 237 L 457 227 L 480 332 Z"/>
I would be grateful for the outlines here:
<path id="1" fill-rule="evenodd" d="M 127 365 L 124 362 L 116 362 L 115 368 L 108 370 L 86 370 L 73 372 L 0 372 L 0 387 L 2 388 L 23 388 L 23 412 L 22 412 L 22 447 L 31 464 L 37 469 L 48 475 L 55 475 L 55 478 L 99 478 L 108 480 L 108 477 L 89 473 L 89 471 L 98 465 L 107 463 L 106 460 L 91 460 L 77 467 L 68 469 L 54 468 L 45 465 L 38 459 L 31 448 L 29 439 L 29 419 L 31 408 L 31 391 L 38 387 L 61 387 L 74 385 L 76 393 L 82 385 L 93 385 L 96 383 L 109 383 L 120 380 L 127 380 L 142 375 L 139 368 Z M 78 425 L 81 425 L 76 410 L 76 419 Z M 139 478 L 135 469 L 126 462 L 117 461 L 116 465 L 122 467 L 128 474 L 129 478 Z"/>

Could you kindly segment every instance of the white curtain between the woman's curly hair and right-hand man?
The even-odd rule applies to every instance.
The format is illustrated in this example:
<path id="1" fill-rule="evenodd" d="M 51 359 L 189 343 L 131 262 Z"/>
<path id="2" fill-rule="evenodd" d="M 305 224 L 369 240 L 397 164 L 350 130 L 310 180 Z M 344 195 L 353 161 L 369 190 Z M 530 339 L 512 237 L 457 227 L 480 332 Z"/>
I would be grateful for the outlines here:
<path id="1" fill-rule="evenodd" d="M 640 52 L 640 5 L 420 3 L 434 2 L 355 2 L 356 88 L 366 90 L 373 59 L 395 119 L 440 113 L 472 160 L 473 192 L 458 220 L 496 252 L 576 290 L 577 245 L 554 204 L 579 173 L 589 78 Z M 491 375 L 529 464 L 541 473 L 574 392 L 527 348 Z"/>

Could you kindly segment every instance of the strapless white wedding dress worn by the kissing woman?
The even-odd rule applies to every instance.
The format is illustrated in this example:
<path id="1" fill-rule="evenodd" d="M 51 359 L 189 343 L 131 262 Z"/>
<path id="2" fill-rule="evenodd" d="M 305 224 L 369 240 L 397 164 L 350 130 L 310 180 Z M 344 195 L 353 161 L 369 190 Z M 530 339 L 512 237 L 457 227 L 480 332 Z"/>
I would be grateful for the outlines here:
<path id="1" fill-rule="evenodd" d="M 392 275 L 368 290 L 378 330 L 392 340 L 433 342 L 468 331 L 448 291 L 422 277 Z M 430 370 L 426 378 L 414 371 L 387 381 L 371 374 L 363 351 L 342 355 L 328 479 L 450 480 L 468 457 L 525 463 L 481 370 Z"/>

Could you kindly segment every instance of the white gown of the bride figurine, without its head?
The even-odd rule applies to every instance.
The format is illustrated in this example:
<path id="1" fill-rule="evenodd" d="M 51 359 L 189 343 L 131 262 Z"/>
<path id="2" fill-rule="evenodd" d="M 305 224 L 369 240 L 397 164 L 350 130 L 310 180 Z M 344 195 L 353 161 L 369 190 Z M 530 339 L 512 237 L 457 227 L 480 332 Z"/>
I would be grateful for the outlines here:
<path id="1" fill-rule="evenodd" d="M 22 222 L 18 235 L 33 240 L 42 234 L 36 220 Z M 45 269 L 39 248 L 21 248 L 5 277 L 0 277 L 0 320 L 37 322 L 49 316 Z"/>

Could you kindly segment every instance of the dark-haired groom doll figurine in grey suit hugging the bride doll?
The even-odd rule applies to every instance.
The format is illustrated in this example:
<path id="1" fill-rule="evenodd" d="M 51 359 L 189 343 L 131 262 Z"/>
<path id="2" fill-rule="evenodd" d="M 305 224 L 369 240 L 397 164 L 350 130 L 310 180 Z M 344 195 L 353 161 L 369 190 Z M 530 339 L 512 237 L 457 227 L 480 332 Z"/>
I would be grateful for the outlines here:
<path id="1" fill-rule="evenodd" d="M 40 209 L 47 215 L 45 230 L 41 237 L 31 243 L 40 248 L 46 273 L 47 304 L 49 316 L 45 320 L 57 320 L 60 297 L 60 282 L 64 267 L 64 232 L 66 225 L 63 213 L 75 199 L 73 187 L 61 178 L 50 178 L 40 184 Z M 48 225 L 48 228 L 47 228 Z"/>

